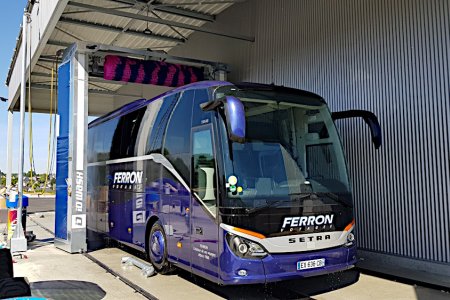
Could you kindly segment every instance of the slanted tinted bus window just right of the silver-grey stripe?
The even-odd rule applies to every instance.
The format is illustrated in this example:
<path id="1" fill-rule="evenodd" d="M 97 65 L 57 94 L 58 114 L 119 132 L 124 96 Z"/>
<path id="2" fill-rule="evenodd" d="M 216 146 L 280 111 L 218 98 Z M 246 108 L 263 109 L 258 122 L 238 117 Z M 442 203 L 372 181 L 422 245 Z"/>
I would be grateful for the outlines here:
<path id="1" fill-rule="evenodd" d="M 157 113 L 154 121 L 154 126 L 149 132 L 147 140 L 147 148 L 145 153 L 150 154 L 154 152 L 161 153 L 163 135 L 166 129 L 167 121 L 169 120 L 170 113 L 176 104 L 179 94 L 174 94 L 162 99 L 162 103 L 159 100 L 153 101 L 149 104 L 150 109 L 154 109 Z"/>

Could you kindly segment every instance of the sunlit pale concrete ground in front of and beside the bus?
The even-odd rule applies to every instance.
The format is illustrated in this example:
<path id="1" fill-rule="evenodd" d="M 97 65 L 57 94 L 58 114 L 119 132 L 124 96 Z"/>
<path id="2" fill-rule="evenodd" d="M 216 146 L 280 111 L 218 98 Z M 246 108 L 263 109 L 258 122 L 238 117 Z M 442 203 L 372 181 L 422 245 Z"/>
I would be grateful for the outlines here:
<path id="1" fill-rule="evenodd" d="M 271 286 L 220 287 L 183 271 L 145 278 L 136 267 L 121 264 L 123 256 L 135 256 L 136 252 L 130 254 L 118 248 L 107 248 L 89 253 L 118 275 L 114 276 L 86 256 L 56 249 L 49 232 L 53 224 L 54 213 L 38 213 L 29 217 L 27 230 L 33 230 L 37 239 L 29 244 L 26 259 L 15 258 L 15 276 L 27 277 L 31 283 L 44 281 L 41 286 L 51 285 L 56 280 L 90 282 L 106 293 L 103 299 L 146 299 L 119 276 L 157 299 L 450 299 L 447 292 L 367 274 L 361 274 L 355 284 L 322 294 L 305 292 L 301 280 Z M 0 224 L 0 232 L 4 227 Z M 339 281 L 339 278 L 334 280 Z"/>

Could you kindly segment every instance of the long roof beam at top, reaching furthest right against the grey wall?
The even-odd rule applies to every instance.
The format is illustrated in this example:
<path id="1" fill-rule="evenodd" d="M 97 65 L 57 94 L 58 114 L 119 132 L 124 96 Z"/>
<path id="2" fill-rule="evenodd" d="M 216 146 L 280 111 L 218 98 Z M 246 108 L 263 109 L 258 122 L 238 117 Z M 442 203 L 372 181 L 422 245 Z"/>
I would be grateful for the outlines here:
<path id="1" fill-rule="evenodd" d="M 138 15 L 135 13 L 129 13 L 129 12 L 124 12 L 124 11 L 111 10 L 108 8 L 79 3 L 79 2 L 75 2 L 75 1 L 69 1 L 69 5 L 89 9 L 89 10 L 104 13 L 104 14 L 109 14 L 109 15 L 129 18 L 129 19 L 137 19 L 137 20 L 141 20 L 141 21 L 145 21 L 145 22 L 163 24 L 163 25 L 173 26 L 173 27 L 178 27 L 178 28 L 184 28 L 184 29 L 188 29 L 188 30 L 213 34 L 213 35 L 222 36 L 222 37 L 228 37 L 228 38 L 237 39 L 237 40 L 243 40 L 243 41 L 249 41 L 249 42 L 255 41 L 254 37 L 249 37 L 249 36 L 240 35 L 240 34 L 228 34 L 228 33 L 219 32 L 216 30 L 212 30 L 212 29 L 192 26 L 192 25 L 185 24 L 185 23 L 173 22 L 173 21 L 158 19 L 158 18 L 154 18 L 154 17 L 147 17 L 147 16 L 142 16 L 142 15 Z"/>

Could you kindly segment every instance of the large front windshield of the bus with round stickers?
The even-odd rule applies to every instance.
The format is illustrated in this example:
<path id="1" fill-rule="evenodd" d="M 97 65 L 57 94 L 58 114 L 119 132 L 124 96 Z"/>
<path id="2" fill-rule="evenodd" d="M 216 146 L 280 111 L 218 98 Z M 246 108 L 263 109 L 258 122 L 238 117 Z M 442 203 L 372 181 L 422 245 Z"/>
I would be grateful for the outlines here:
<path id="1" fill-rule="evenodd" d="M 322 99 L 236 87 L 215 93 L 216 98 L 226 95 L 244 104 L 246 140 L 242 144 L 228 140 L 222 118 L 227 189 L 222 207 L 252 209 L 308 195 L 351 201 L 342 197 L 350 195 L 347 167 Z"/>

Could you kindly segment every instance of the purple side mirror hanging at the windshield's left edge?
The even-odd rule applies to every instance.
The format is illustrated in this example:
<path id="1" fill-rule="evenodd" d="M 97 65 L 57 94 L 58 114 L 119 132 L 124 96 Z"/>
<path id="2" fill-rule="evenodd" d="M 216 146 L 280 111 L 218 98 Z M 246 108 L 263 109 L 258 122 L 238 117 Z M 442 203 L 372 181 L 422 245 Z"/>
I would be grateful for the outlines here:
<path id="1" fill-rule="evenodd" d="M 227 121 L 228 138 L 233 142 L 245 142 L 245 110 L 241 100 L 233 96 L 201 104 L 203 111 L 210 111 L 223 106 Z"/>

